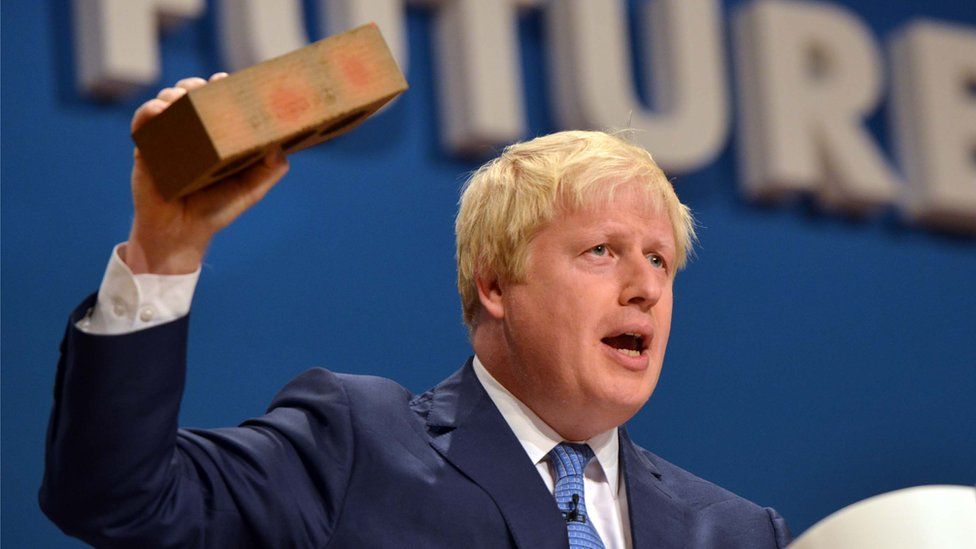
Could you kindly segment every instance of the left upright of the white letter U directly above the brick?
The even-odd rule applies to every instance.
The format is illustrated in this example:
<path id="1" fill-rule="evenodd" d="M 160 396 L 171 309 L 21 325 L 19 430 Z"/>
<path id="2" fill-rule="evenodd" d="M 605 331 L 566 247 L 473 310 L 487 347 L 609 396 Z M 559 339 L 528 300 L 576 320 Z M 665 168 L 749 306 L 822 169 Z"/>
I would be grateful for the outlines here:
<path id="1" fill-rule="evenodd" d="M 308 45 L 301 0 L 219 0 L 227 70 L 239 70 Z"/>

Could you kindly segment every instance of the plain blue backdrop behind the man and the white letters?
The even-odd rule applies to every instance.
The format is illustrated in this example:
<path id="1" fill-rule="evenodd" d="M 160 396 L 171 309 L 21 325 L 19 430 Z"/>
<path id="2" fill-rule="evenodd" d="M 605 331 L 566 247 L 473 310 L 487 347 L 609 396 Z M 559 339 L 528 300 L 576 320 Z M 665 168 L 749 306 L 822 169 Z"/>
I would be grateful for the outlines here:
<path id="1" fill-rule="evenodd" d="M 879 41 L 918 16 L 976 24 L 971 1 L 837 3 Z M 164 82 L 221 68 L 210 8 L 164 38 Z M 74 92 L 67 0 L 7 0 L 0 15 L 2 536 L 73 546 L 36 498 L 57 347 L 127 234 L 128 121 L 155 90 L 123 104 Z M 477 162 L 438 143 L 430 13 L 411 8 L 408 23 L 411 90 L 293 157 L 288 178 L 214 242 L 184 424 L 260 414 L 311 366 L 420 391 L 467 357 L 452 223 Z M 530 133 L 548 133 L 541 18 L 524 15 L 519 30 Z M 872 129 L 890 151 L 886 109 Z M 701 246 L 678 277 L 664 374 L 633 437 L 776 507 L 796 533 L 877 493 L 976 481 L 976 242 L 906 227 L 894 210 L 850 220 L 802 201 L 750 204 L 734 148 L 676 179 Z"/>

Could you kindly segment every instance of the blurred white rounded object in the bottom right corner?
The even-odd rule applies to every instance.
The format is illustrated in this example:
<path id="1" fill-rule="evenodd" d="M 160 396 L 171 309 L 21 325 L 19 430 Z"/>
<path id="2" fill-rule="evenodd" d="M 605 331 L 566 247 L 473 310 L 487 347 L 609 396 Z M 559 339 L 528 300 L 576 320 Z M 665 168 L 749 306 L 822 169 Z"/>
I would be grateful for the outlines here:
<path id="1" fill-rule="evenodd" d="M 790 549 L 974 549 L 976 488 L 918 486 L 849 505 L 813 525 Z"/>

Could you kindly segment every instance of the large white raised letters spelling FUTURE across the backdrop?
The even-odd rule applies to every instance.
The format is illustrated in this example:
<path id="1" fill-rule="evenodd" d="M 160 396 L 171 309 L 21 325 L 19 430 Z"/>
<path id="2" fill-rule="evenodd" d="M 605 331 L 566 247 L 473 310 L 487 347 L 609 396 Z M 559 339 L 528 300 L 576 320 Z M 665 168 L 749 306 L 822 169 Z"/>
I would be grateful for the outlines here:
<path id="1" fill-rule="evenodd" d="M 520 9 L 544 12 L 549 93 L 562 128 L 629 125 L 672 172 L 710 163 L 738 86 L 741 188 L 759 200 L 811 193 L 837 209 L 896 204 L 909 220 L 976 233 L 976 29 L 910 21 L 881 48 L 850 10 L 824 2 L 756 0 L 731 16 L 724 51 L 718 0 L 656 0 L 633 14 L 646 43 L 654 109 L 638 98 L 622 0 L 318 0 L 328 34 L 368 21 L 408 65 L 406 4 L 435 18 L 441 135 L 455 153 L 524 136 Z M 119 98 L 156 83 L 158 29 L 201 16 L 205 0 L 74 0 L 78 76 Z M 227 64 L 240 68 L 308 43 L 301 0 L 218 0 Z M 653 74 L 653 78 L 650 75 Z M 901 170 L 865 118 L 886 93 Z"/>

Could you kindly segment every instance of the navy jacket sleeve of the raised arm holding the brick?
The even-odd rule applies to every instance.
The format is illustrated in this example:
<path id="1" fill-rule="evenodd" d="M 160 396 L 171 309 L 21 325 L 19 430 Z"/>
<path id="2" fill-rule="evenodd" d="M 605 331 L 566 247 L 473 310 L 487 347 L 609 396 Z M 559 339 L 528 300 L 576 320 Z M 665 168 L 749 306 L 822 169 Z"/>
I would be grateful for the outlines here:
<path id="1" fill-rule="evenodd" d="M 188 317 L 61 344 L 41 508 L 96 546 L 322 546 L 353 452 L 349 405 L 325 370 L 296 378 L 241 426 L 177 428 Z"/>

